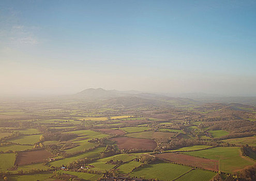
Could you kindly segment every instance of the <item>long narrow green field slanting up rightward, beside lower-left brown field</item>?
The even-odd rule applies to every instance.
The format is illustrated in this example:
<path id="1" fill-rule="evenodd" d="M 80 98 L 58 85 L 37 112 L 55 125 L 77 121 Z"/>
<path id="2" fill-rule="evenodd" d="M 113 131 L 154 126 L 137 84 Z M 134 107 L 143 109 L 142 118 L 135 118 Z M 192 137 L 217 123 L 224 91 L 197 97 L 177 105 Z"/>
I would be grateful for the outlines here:
<path id="1" fill-rule="evenodd" d="M 67 165 L 68 163 L 71 163 L 73 161 L 82 159 L 82 158 L 96 158 L 100 156 L 100 152 L 103 152 L 103 150 L 105 149 L 105 147 L 97 147 L 96 149 L 90 151 L 90 152 L 86 152 L 83 154 L 79 154 L 73 157 L 69 157 L 69 158 L 64 158 L 61 160 L 57 160 L 57 161 L 53 161 L 50 162 L 50 165 L 53 165 L 54 167 L 61 167 L 62 164 Z"/>

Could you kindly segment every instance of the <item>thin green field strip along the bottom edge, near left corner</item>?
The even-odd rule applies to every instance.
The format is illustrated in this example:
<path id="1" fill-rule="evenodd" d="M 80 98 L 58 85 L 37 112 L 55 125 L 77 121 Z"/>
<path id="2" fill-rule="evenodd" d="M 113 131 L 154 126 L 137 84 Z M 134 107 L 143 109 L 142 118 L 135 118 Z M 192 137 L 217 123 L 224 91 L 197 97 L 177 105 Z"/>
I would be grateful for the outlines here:
<path id="1" fill-rule="evenodd" d="M 30 175 L 11 175 L 8 180 L 10 181 L 28 181 L 28 180 L 46 180 L 52 176 L 52 173 L 40 173 L 40 174 L 30 174 Z"/>

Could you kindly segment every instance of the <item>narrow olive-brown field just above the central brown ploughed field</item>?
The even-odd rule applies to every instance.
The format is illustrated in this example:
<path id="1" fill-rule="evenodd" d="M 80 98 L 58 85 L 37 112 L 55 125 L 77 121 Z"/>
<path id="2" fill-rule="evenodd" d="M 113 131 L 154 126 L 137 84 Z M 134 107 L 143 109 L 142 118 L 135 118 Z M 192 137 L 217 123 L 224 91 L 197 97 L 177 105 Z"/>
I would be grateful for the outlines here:
<path id="1" fill-rule="evenodd" d="M 147 138 L 147 139 L 163 139 L 173 137 L 175 133 L 173 132 L 155 132 L 155 131 L 143 131 L 134 132 L 126 134 L 128 137 L 132 138 Z"/>

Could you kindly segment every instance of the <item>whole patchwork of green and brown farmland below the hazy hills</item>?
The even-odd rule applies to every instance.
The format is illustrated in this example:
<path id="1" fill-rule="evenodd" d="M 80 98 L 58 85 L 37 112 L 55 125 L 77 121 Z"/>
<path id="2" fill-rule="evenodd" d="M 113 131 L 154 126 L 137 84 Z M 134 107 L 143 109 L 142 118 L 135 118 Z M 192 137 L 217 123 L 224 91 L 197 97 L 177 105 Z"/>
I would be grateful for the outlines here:
<path id="1" fill-rule="evenodd" d="M 236 120 L 228 104 L 115 101 L 35 100 L 19 108 L 0 102 L 0 112 L 9 112 L 2 116 L 17 116 L 0 117 L 0 174 L 28 181 L 64 181 L 65 174 L 209 181 L 221 171 L 224 181 L 256 163 L 256 122 L 246 118 L 255 113 L 239 111 Z"/>

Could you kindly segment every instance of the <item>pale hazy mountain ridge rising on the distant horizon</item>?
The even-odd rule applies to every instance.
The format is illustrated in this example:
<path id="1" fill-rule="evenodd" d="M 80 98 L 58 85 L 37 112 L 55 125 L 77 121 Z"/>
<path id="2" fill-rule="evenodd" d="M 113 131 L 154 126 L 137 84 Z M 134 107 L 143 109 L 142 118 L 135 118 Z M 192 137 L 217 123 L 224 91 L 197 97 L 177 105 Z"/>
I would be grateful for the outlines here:
<path id="1" fill-rule="evenodd" d="M 74 95 L 74 98 L 85 100 L 98 100 L 94 105 L 117 105 L 119 107 L 157 106 L 173 107 L 177 104 L 198 104 L 199 102 L 188 98 L 173 98 L 165 95 L 142 93 L 135 90 L 118 91 L 103 88 L 89 88 Z"/>

